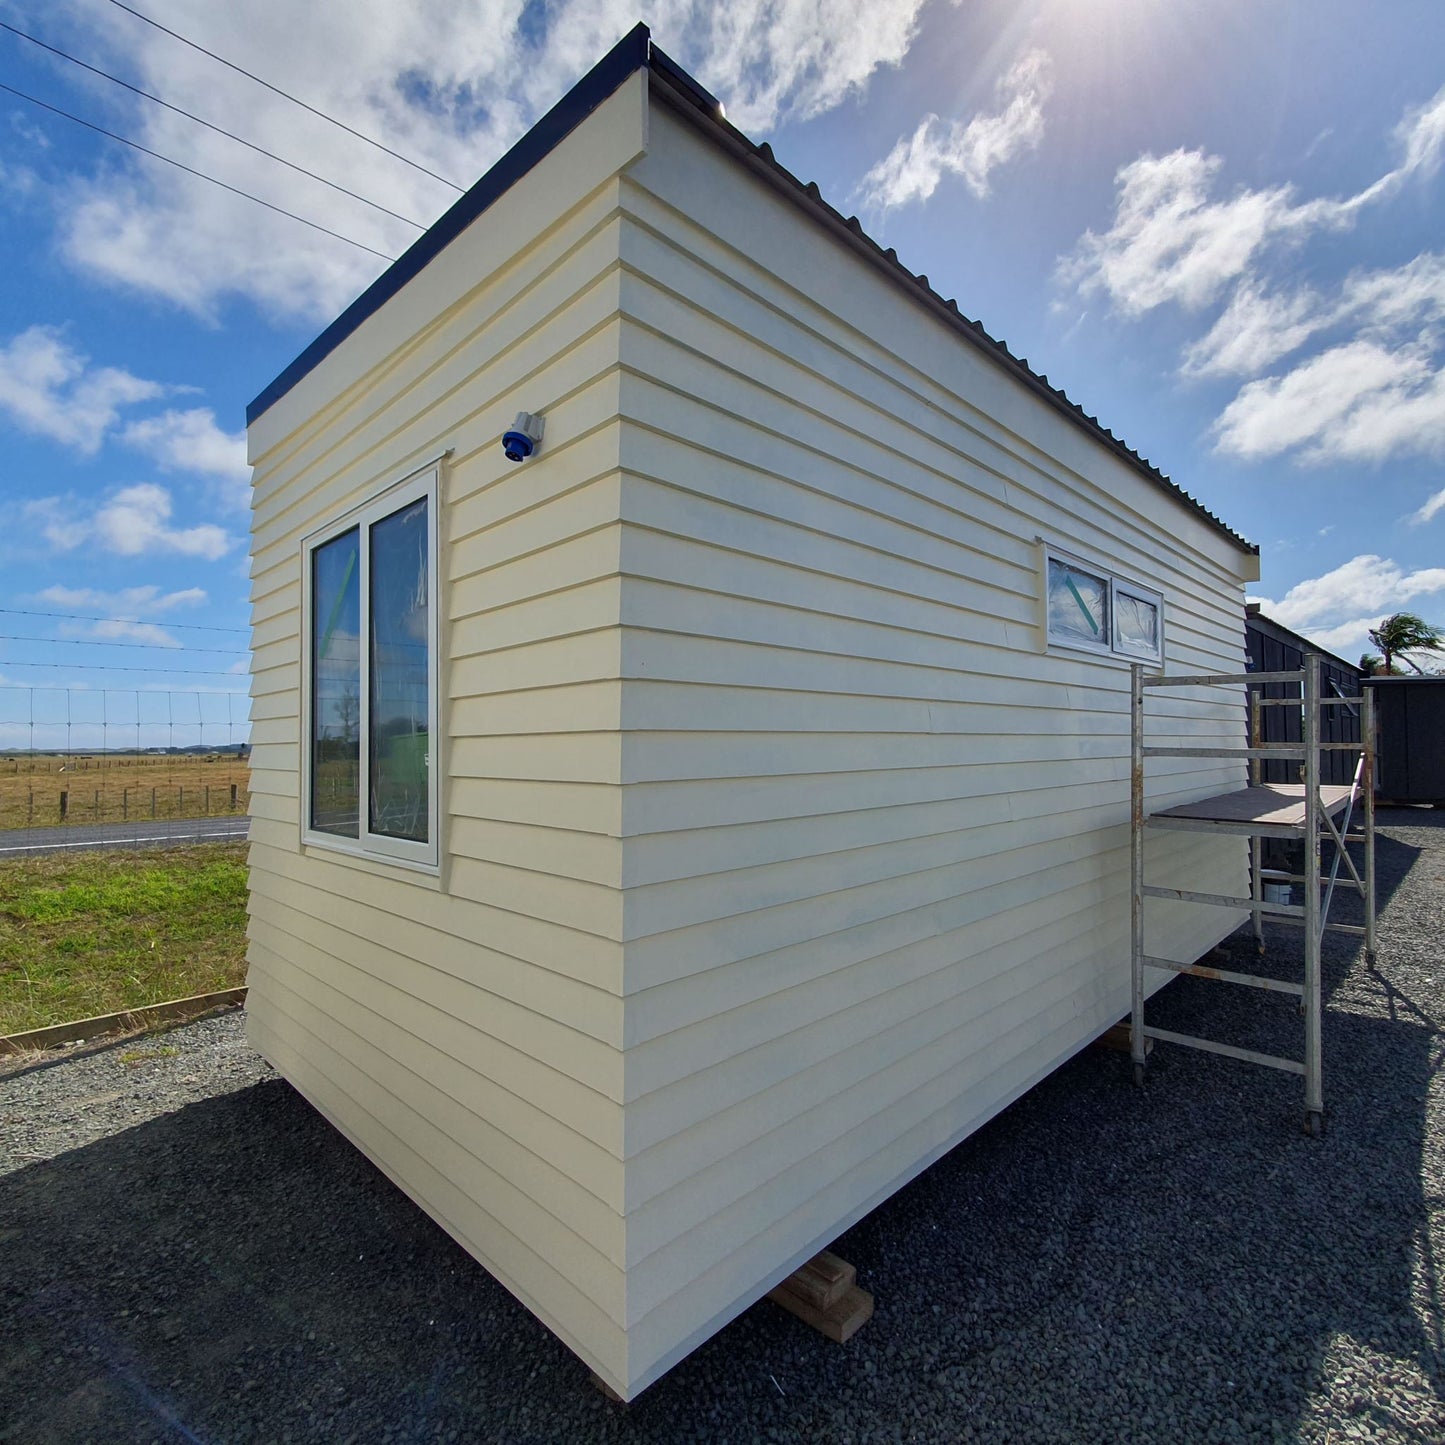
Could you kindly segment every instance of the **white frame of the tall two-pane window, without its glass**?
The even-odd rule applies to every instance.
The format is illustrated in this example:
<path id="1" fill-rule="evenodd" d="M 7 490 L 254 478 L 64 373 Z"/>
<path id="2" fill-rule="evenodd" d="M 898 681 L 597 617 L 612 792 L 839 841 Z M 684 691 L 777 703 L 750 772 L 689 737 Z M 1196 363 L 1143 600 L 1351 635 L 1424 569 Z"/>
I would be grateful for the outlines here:
<path id="1" fill-rule="evenodd" d="M 412 838 L 392 838 L 371 832 L 371 545 L 370 529 L 413 501 L 426 499 L 426 842 Z M 301 841 L 308 848 L 325 848 L 357 858 L 392 863 L 402 867 L 438 873 L 441 868 L 441 698 L 439 698 L 439 516 L 441 462 L 429 462 L 420 471 L 379 491 L 374 497 L 353 507 L 324 527 L 308 533 L 301 540 Z M 319 832 L 311 825 L 312 796 L 312 722 L 314 722 L 314 666 L 312 656 L 312 608 L 314 568 L 312 556 L 316 548 L 325 546 L 344 532 L 358 529 L 358 588 L 360 588 L 360 790 L 357 796 L 357 837 L 347 838 L 334 832 Z"/>

